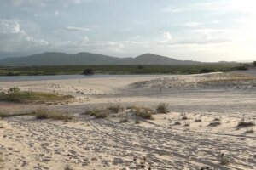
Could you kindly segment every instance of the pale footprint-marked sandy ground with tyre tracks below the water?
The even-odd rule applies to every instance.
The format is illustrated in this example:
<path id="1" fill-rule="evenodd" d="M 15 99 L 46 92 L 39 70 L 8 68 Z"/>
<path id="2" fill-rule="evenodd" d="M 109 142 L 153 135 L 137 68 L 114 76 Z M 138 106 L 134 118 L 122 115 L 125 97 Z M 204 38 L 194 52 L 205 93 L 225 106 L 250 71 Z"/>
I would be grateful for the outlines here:
<path id="1" fill-rule="evenodd" d="M 14 116 L 0 120 L 3 169 L 255 169 L 256 79 L 251 75 L 210 73 L 189 76 L 93 78 L 37 82 L 0 82 L 6 90 L 72 94 L 72 103 L 19 105 L 0 103 L 0 111 L 47 108 L 72 113 L 72 122 Z M 80 115 L 109 105 L 166 103 L 169 112 L 154 120 L 130 109 L 107 119 Z M 127 116 L 129 122 L 120 123 Z M 175 125 L 179 122 L 179 125 Z M 217 126 L 209 126 L 219 122 Z M 220 165 L 220 158 L 230 161 Z M 2 160 L 2 161 L 1 161 Z"/>

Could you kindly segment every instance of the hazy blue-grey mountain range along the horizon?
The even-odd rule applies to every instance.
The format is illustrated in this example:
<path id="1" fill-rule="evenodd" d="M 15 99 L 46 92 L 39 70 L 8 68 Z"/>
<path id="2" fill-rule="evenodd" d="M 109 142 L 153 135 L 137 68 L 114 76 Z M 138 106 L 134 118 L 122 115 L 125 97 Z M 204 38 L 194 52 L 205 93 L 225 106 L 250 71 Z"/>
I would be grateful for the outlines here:
<path id="1" fill-rule="evenodd" d="M 46 52 L 26 57 L 0 60 L 2 66 L 25 65 L 198 65 L 201 62 L 177 60 L 156 54 L 143 54 L 136 58 L 117 58 L 102 54 L 65 54 Z"/>

